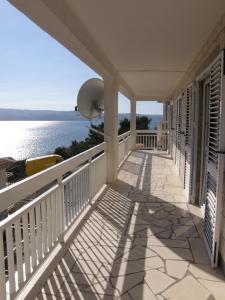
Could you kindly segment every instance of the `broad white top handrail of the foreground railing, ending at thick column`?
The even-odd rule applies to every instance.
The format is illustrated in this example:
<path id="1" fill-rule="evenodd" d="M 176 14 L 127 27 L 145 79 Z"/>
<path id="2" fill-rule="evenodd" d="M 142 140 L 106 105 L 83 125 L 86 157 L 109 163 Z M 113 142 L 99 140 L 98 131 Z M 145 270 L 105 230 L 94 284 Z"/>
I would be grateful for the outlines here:
<path id="1" fill-rule="evenodd" d="M 41 171 L 29 178 L 23 179 L 0 190 L 0 212 L 8 209 L 11 205 L 32 195 L 44 186 L 52 183 L 54 180 L 62 177 L 70 171 L 74 171 L 85 161 L 99 154 L 106 149 L 106 142 L 90 148 L 74 157 L 67 159 L 55 166 Z"/>

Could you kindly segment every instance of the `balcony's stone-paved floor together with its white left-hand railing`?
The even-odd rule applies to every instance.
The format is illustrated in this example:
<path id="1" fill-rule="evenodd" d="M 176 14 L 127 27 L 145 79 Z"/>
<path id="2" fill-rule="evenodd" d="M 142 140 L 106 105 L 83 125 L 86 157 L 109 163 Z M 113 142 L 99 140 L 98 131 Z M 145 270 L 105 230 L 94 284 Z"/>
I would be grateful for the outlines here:
<path id="1" fill-rule="evenodd" d="M 1 192 L 3 210 L 45 187 L 0 223 L 1 299 L 223 299 L 170 155 L 131 138 L 111 185 L 103 143 Z"/>

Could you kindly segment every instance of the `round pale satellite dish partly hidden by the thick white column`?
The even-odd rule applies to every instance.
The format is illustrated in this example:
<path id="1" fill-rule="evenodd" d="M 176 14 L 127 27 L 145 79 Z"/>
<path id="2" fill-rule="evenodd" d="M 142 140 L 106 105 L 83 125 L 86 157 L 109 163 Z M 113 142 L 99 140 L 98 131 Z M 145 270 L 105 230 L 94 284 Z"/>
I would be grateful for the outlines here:
<path id="1" fill-rule="evenodd" d="M 89 120 L 101 115 L 104 110 L 104 82 L 101 79 L 89 79 L 81 86 L 75 110 Z"/>

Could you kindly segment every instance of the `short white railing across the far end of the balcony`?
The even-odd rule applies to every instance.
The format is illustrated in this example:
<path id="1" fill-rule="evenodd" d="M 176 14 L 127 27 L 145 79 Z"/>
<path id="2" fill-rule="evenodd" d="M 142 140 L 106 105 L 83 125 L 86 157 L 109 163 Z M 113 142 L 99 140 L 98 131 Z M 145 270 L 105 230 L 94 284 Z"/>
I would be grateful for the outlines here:
<path id="1" fill-rule="evenodd" d="M 137 149 L 168 150 L 168 130 L 136 130 Z"/>

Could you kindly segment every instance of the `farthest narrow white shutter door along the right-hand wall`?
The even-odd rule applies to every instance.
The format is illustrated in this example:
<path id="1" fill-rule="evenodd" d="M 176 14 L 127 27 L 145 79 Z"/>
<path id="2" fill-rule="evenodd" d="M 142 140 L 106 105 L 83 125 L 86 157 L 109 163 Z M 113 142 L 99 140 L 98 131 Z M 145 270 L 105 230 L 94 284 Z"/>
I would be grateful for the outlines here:
<path id="1" fill-rule="evenodd" d="M 177 99 L 176 105 L 176 168 L 180 174 L 181 159 L 181 98 Z"/>

